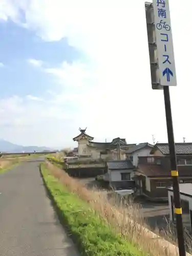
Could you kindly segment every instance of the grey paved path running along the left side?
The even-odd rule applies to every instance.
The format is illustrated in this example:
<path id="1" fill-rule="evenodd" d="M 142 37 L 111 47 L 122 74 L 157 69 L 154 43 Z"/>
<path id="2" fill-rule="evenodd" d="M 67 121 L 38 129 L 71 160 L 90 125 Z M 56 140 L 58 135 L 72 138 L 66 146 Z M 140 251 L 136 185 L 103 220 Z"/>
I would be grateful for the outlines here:
<path id="1" fill-rule="evenodd" d="M 78 256 L 31 160 L 0 175 L 0 256 Z"/>

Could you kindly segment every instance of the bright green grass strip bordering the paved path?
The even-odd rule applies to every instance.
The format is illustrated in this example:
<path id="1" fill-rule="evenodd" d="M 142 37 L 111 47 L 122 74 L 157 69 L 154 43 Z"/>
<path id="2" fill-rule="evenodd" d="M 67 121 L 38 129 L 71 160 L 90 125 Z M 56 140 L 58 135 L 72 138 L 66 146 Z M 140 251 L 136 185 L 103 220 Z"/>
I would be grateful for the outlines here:
<path id="1" fill-rule="evenodd" d="M 54 167 L 55 168 L 55 167 Z M 48 165 L 41 165 L 41 174 L 44 177 L 62 219 L 67 223 L 78 247 L 83 255 L 89 256 L 146 256 L 138 245 L 128 242 L 120 236 L 106 219 L 99 215 L 92 205 L 79 197 L 70 189 L 70 184 L 63 185 L 58 177 L 50 173 Z M 75 181 L 71 179 L 72 183 Z M 72 185 L 71 183 L 71 185 Z M 73 183 L 74 185 L 74 183 Z M 72 188 L 72 187 L 71 187 Z"/>

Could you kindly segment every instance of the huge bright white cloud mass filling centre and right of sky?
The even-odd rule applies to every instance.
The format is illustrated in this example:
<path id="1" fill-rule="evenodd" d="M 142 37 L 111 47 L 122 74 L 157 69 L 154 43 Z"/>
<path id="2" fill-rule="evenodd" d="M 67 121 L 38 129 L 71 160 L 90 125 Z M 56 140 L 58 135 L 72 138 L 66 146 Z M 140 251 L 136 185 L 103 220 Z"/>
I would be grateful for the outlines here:
<path id="1" fill-rule="evenodd" d="M 15 5 L 11 5 L 12 1 L 0 5 L 0 18 L 9 17 L 21 23 L 18 12 L 21 8 L 26 15 L 26 28 L 48 41 L 67 37 L 70 45 L 91 60 L 89 65 L 63 62 L 59 67 L 44 69 L 59 82 L 60 92 L 49 94 L 52 109 L 32 100 L 38 105 L 39 120 L 39 113 L 48 110 L 53 120 L 54 111 L 58 113 L 56 118 L 62 116 L 66 110 L 62 102 L 68 102 L 74 110 L 71 114 L 74 126 L 63 125 L 62 132 L 69 136 L 75 129 L 78 132 L 78 126 L 88 126 L 88 133 L 98 139 L 124 136 L 131 142 L 152 141 L 155 134 L 158 141 L 166 140 L 163 93 L 151 89 L 144 2 L 131 5 L 125 0 L 18 0 Z M 188 83 L 192 52 L 184 47 L 186 41 L 190 45 L 192 40 L 186 34 L 190 31 L 188 17 L 192 3 L 186 0 L 188 8 L 184 12 L 178 8 L 179 0 L 170 0 L 169 5 L 178 80 L 178 87 L 170 89 L 175 138 L 181 141 L 185 136 L 192 140 L 186 111 L 190 109 L 192 94 Z M 34 59 L 30 63 L 42 66 L 42 62 Z"/>

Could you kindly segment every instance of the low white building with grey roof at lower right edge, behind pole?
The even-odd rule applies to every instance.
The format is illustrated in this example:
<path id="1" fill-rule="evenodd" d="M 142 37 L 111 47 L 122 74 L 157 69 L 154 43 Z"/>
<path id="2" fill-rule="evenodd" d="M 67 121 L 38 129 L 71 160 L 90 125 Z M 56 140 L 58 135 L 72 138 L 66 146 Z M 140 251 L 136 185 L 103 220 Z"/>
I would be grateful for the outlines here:
<path id="1" fill-rule="evenodd" d="M 181 208 L 182 208 L 182 219 L 183 224 L 190 231 L 192 231 L 192 184 L 179 184 Z M 173 187 L 168 187 L 168 205 L 169 205 L 169 218 L 170 221 L 176 221 L 174 213 L 174 193 Z"/>

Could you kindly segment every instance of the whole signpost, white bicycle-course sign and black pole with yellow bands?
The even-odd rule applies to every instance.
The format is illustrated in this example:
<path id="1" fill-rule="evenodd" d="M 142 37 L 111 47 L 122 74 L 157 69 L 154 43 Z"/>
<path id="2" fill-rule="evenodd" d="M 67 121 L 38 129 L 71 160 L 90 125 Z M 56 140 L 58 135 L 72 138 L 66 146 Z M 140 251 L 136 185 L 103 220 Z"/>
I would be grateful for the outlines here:
<path id="1" fill-rule="evenodd" d="M 154 70 L 152 68 L 155 65 L 155 77 L 157 79 L 156 83 L 163 88 L 164 93 L 167 137 L 171 168 L 170 173 L 173 178 L 179 255 L 186 256 L 172 110 L 169 95 L 169 86 L 177 86 L 177 79 L 168 0 L 153 0 L 153 4 L 146 2 L 145 12 L 148 45 L 150 50 L 151 73 L 153 75 Z M 151 23 L 149 22 L 150 19 Z M 151 46 L 153 46 L 153 50 L 151 50 Z"/>

